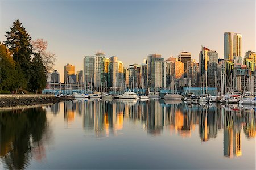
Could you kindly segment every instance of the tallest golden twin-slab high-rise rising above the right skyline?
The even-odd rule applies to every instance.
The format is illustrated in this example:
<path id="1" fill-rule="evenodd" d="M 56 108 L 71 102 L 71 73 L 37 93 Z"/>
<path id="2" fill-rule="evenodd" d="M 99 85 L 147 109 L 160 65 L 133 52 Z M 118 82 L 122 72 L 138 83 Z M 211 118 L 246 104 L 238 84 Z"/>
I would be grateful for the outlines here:
<path id="1" fill-rule="evenodd" d="M 240 33 L 224 33 L 224 59 L 233 61 L 234 56 L 242 55 L 242 35 Z"/>

